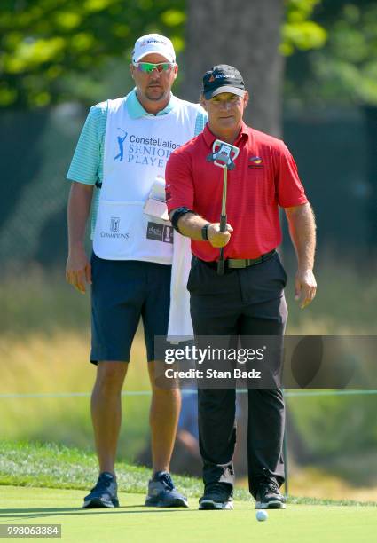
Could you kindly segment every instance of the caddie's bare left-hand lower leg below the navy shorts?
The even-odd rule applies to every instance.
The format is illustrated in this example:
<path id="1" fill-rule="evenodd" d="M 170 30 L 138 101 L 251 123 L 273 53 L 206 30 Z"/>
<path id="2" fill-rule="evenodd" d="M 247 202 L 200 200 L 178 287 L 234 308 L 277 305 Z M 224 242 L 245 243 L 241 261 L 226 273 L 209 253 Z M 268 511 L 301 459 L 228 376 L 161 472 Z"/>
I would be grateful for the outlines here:
<path id="1" fill-rule="evenodd" d="M 122 385 L 128 364 L 98 362 L 97 379 L 91 395 L 93 422 L 99 473 L 115 474 L 116 448 L 122 421 Z"/>

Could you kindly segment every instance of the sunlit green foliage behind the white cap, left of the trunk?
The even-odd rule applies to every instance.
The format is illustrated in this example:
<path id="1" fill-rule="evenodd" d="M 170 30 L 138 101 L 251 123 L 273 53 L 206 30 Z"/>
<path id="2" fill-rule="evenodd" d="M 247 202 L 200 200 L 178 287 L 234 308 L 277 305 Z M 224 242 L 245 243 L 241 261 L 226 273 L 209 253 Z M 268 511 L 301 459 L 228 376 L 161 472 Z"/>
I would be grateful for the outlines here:
<path id="1" fill-rule="evenodd" d="M 0 107 L 35 107 L 82 98 L 109 59 L 128 64 L 139 35 L 161 32 L 183 48 L 184 0 L 24 0 L 0 8 Z M 71 78 L 71 83 L 67 80 Z"/>

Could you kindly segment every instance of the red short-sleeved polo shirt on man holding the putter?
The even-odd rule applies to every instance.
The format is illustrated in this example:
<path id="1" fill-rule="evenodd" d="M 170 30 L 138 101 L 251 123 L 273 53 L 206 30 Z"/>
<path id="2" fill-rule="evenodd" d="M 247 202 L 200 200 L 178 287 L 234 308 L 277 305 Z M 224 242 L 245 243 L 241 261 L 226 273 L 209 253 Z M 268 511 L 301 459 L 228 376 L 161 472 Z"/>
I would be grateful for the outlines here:
<path id="1" fill-rule="evenodd" d="M 207 124 L 170 155 L 165 172 L 169 211 L 185 206 L 210 223 L 220 222 L 224 169 L 206 160 L 215 140 Z M 235 169 L 228 170 L 226 213 L 233 232 L 224 257 L 257 258 L 281 242 L 279 206 L 291 208 L 307 199 L 283 141 L 242 123 L 233 145 L 240 153 Z M 192 240 L 192 254 L 213 261 L 219 249 L 208 241 Z"/>

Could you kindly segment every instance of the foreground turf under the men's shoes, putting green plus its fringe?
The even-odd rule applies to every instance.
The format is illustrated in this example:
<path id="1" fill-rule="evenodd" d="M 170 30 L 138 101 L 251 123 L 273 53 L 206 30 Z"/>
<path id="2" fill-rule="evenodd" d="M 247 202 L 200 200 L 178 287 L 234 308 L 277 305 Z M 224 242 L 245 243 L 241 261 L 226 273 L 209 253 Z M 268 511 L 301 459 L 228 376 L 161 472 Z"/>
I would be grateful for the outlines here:
<path id="1" fill-rule="evenodd" d="M 225 543 L 363 543 L 375 536 L 377 502 L 289 498 L 286 510 L 255 519 L 246 491 L 235 492 L 233 511 L 198 511 L 199 479 L 175 476 L 190 508 L 145 508 L 149 470 L 117 465 L 120 508 L 82 509 L 98 475 L 93 454 L 61 445 L 0 441 L 0 524 L 60 524 L 62 539 L 77 543 L 131 541 Z M 5 505 L 6 504 L 6 505 Z"/>

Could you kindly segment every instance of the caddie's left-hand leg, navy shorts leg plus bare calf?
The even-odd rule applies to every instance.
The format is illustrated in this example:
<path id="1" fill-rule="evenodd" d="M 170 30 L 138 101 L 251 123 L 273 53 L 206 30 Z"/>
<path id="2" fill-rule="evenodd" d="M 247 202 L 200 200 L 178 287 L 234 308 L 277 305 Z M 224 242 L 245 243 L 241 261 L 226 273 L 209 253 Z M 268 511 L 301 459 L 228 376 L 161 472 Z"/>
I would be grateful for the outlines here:
<path id="1" fill-rule="evenodd" d="M 91 415 L 99 470 L 114 473 L 122 419 L 121 392 L 145 295 L 144 263 L 92 255 L 91 353 L 98 364 Z"/>

